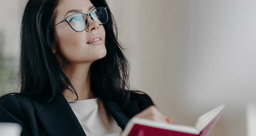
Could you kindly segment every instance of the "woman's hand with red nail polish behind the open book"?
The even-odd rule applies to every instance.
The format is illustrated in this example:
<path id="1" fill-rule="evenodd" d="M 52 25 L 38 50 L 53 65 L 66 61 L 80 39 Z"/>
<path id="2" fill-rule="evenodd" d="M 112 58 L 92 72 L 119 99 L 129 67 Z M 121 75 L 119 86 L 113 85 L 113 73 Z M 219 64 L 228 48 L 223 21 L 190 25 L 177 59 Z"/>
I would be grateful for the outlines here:
<path id="1" fill-rule="evenodd" d="M 142 112 L 136 114 L 134 117 L 140 117 L 165 123 L 172 123 L 172 120 L 160 113 L 155 106 L 149 106 Z"/>

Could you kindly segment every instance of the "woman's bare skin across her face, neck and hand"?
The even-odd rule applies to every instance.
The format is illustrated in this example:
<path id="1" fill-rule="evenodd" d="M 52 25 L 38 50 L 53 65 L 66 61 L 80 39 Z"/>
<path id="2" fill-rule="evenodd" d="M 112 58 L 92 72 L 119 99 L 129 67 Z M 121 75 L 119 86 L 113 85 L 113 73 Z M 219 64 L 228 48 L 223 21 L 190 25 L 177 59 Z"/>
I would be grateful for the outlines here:
<path id="1" fill-rule="evenodd" d="M 93 4 L 90 0 L 76 0 L 76 2 L 74 0 L 62 0 L 57 7 L 54 24 L 74 14 L 75 12 L 67 14 L 68 11 L 74 9 L 88 14 L 92 11 Z M 95 98 L 90 86 L 90 66 L 93 61 L 106 56 L 104 27 L 89 17 L 88 27 L 82 32 L 74 31 L 67 22 L 60 23 L 54 28 L 59 43 L 58 46 L 52 43 L 52 50 L 55 52 L 54 55 L 63 72 L 75 87 L 78 100 Z M 88 44 L 95 38 L 100 38 L 100 40 Z M 67 101 L 76 100 L 76 95 L 70 91 L 64 90 L 63 94 Z M 135 116 L 171 123 L 171 120 L 162 115 L 155 106 L 150 106 Z"/>

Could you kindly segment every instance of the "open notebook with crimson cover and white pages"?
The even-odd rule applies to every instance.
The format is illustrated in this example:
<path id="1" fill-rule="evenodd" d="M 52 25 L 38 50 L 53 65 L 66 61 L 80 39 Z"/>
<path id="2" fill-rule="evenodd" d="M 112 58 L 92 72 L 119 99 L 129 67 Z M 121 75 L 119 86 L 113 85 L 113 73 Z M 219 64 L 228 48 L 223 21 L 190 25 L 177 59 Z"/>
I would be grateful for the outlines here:
<path id="1" fill-rule="evenodd" d="M 224 109 L 225 105 L 221 104 L 203 114 L 197 119 L 195 127 L 133 117 L 121 136 L 207 136 Z"/>

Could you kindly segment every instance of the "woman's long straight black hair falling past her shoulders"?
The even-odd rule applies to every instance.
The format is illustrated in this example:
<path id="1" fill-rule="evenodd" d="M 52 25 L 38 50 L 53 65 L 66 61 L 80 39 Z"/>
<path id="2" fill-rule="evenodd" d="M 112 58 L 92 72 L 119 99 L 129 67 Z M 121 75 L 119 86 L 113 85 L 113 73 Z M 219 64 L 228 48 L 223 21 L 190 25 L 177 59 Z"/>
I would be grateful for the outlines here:
<path id="1" fill-rule="evenodd" d="M 29 0 L 22 18 L 20 94 L 40 102 L 61 100 L 64 89 L 76 94 L 52 54 L 51 42 L 58 43 L 58 39 L 51 27 L 60 2 L 61 0 Z M 108 7 L 105 0 L 91 2 L 95 7 Z M 94 95 L 116 101 L 125 107 L 130 100 L 129 65 L 117 40 L 115 20 L 109 8 L 107 11 L 109 20 L 104 25 L 107 54 L 92 63 L 91 86 Z"/>

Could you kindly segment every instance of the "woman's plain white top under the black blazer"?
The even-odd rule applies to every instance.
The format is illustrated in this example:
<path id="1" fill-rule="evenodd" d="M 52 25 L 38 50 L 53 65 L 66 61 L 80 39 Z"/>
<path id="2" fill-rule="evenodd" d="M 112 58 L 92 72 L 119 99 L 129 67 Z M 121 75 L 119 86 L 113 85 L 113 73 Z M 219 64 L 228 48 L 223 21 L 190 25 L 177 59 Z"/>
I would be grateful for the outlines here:
<path id="1" fill-rule="evenodd" d="M 122 129 L 106 111 L 100 98 L 69 103 L 86 136 L 120 136 Z"/>

